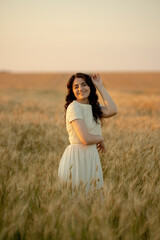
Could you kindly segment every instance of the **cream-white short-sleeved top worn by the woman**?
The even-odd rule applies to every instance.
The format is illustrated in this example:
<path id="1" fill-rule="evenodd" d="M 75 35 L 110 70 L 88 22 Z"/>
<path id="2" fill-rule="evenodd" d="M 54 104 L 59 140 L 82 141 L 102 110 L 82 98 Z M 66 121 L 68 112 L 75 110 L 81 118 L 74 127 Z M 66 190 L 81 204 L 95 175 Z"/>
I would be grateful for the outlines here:
<path id="1" fill-rule="evenodd" d="M 95 135 L 101 135 L 101 121 L 98 123 L 94 120 L 92 106 L 90 104 L 82 104 L 74 100 L 69 104 L 66 111 L 66 129 L 71 144 L 80 144 L 80 140 L 71 124 L 75 119 L 83 119 L 88 132 Z"/>

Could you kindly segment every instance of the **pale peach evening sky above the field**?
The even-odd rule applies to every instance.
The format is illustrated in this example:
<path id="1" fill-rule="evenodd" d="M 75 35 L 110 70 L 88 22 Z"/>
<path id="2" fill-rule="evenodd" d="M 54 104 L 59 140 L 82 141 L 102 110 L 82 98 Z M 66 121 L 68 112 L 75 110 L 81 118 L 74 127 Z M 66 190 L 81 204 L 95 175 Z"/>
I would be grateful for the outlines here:
<path id="1" fill-rule="evenodd" d="M 0 71 L 160 71 L 159 0 L 0 0 Z"/>

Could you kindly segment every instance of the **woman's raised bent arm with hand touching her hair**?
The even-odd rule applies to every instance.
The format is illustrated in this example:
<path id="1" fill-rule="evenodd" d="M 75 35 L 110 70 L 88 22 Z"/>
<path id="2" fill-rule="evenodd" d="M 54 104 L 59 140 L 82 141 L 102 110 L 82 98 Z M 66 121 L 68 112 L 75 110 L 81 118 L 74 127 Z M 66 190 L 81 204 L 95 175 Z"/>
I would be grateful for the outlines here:
<path id="1" fill-rule="evenodd" d="M 91 75 L 91 78 L 95 87 L 98 89 L 100 95 L 102 96 L 105 105 L 101 106 L 101 111 L 103 112 L 102 117 L 109 118 L 117 114 L 118 113 L 117 106 L 110 97 L 110 95 L 108 94 L 108 92 L 106 91 L 105 87 L 103 86 L 103 82 L 99 73 Z"/>

